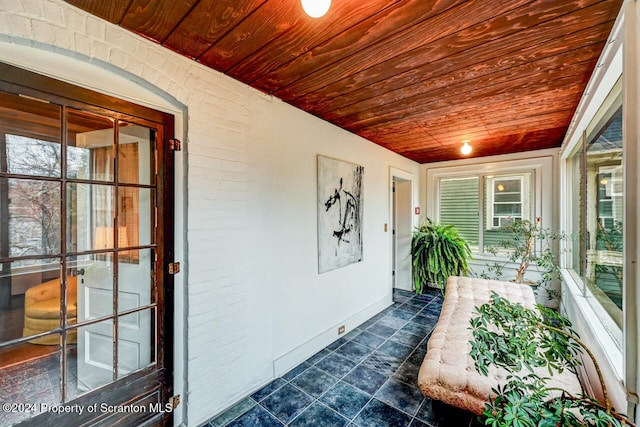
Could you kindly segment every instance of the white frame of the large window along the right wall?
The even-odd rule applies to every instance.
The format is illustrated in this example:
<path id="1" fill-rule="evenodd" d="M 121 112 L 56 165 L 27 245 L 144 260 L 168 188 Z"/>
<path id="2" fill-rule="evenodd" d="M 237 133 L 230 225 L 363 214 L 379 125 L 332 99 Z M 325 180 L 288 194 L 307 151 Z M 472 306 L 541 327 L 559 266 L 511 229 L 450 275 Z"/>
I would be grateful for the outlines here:
<path id="1" fill-rule="evenodd" d="M 636 13 L 637 5 L 634 2 L 626 3 L 623 5 L 622 11 L 616 18 L 616 22 L 613 25 L 613 29 L 607 40 L 607 44 L 598 60 L 598 67 L 595 69 L 587 87 L 584 91 L 583 97 L 576 108 L 574 117 L 567 130 L 565 140 L 563 142 L 560 151 L 560 198 L 562 203 L 560 205 L 560 227 L 566 232 L 571 232 L 575 229 L 574 222 L 579 220 L 572 217 L 571 203 L 568 202 L 572 194 L 579 192 L 579 188 L 574 188 L 572 177 L 572 163 L 569 162 L 571 156 L 573 156 L 576 150 L 582 149 L 584 145 L 580 143 L 586 140 L 586 133 L 588 127 L 596 117 L 598 110 L 603 104 L 605 98 L 610 93 L 613 86 L 623 73 L 623 68 L 629 71 L 630 65 L 623 64 L 623 50 L 625 55 L 631 54 L 629 58 L 635 58 L 637 51 L 635 50 L 633 37 L 637 33 L 636 25 L 633 22 L 625 25 L 625 21 L 634 21 L 634 13 Z M 632 12 L 629 14 L 629 12 Z M 626 17 L 625 17 L 626 15 Z M 631 16 L 630 16 L 631 15 Z M 623 48 L 623 40 L 632 41 L 631 44 L 626 44 Z M 628 50 L 631 49 L 631 50 Z M 627 61 L 627 64 L 633 63 L 634 60 Z M 633 65 L 631 65 L 633 67 Z M 635 73 L 627 74 L 635 76 Z M 623 80 L 623 90 L 627 90 L 629 86 L 637 86 L 637 76 L 631 79 Z M 630 95 L 626 94 L 625 98 Z M 634 101 L 631 100 L 629 105 L 634 105 Z M 633 111 L 637 112 L 637 109 L 633 111 L 628 109 L 626 100 L 623 100 L 623 108 L 625 114 L 633 114 Z M 624 120 L 623 120 L 624 122 Z M 624 124 L 626 127 L 627 124 Z M 635 129 L 635 128 L 634 128 Z M 627 131 L 629 129 L 626 129 Z M 637 130 L 637 129 L 636 129 Z M 585 148 L 586 149 L 586 148 Z M 632 155 L 631 155 L 632 154 Z M 633 149 L 629 151 L 629 144 L 623 145 L 623 174 L 624 179 L 628 181 L 632 179 L 630 176 L 637 176 L 636 167 L 633 167 L 630 162 L 637 155 L 637 150 Z M 586 167 L 586 166 L 583 166 Z M 633 188 L 630 191 L 627 188 L 625 191 L 625 198 L 627 206 L 625 207 L 624 216 L 630 214 L 630 203 L 637 200 L 634 195 L 638 191 L 637 188 Z M 636 187 L 636 186 L 633 186 Z M 633 207 L 631 207 L 633 208 Z M 634 217 L 636 214 L 634 213 Z M 635 247 L 629 245 L 635 239 L 635 231 L 625 231 L 625 254 L 624 254 L 624 275 L 625 281 L 635 282 L 635 273 L 630 267 L 630 259 L 635 256 Z M 591 304 L 588 301 L 589 296 L 584 296 L 582 292 L 582 281 L 579 274 L 576 274 L 571 269 L 574 263 L 584 262 L 583 260 L 573 259 L 571 252 L 569 252 L 570 243 L 568 241 L 561 242 L 561 274 L 563 278 L 562 287 L 562 305 L 561 310 L 566 313 L 570 320 L 574 323 L 574 327 L 577 332 L 583 337 L 583 341 L 589 346 L 590 350 L 594 353 L 595 357 L 600 362 L 600 368 L 605 378 L 609 396 L 615 407 L 626 409 L 627 413 L 633 414 L 635 411 L 635 403 L 629 400 L 628 397 L 637 392 L 636 387 L 636 372 L 637 372 L 637 354 L 635 352 L 637 346 L 637 335 L 635 334 L 635 325 L 633 319 L 637 317 L 637 306 L 635 301 L 629 304 L 625 304 L 626 312 L 624 317 L 623 327 L 627 330 L 623 333 L 622 348 L 620 343 L 616 342 L 611 334 L 608 332 L 607 321 L 602 319 L 609 318 L 603 316 L 603 313 L 599 312 L 598 305 Z M 635 258 L 634 258 L 635 259 Z M 577 266 L 579 268 L 579 266 Z M 626 291 L 624 291 L 626 292 Z M 631 292 L 631 295 L 635 295 L 635 291 Z M 627 295 L 628 297 L 629 295 Z M 633 299 L 633 298 L 632 298 Z M 600 309 L 604 312 L 604 309 Z M 613 322 L 613 320 L 609 320 Z M 632 323 L 630 323 L 632 322 Z M 627 328 L 627 326 L 630 326 Z M 636 420 L 637 421 L 637 420 Z"/>

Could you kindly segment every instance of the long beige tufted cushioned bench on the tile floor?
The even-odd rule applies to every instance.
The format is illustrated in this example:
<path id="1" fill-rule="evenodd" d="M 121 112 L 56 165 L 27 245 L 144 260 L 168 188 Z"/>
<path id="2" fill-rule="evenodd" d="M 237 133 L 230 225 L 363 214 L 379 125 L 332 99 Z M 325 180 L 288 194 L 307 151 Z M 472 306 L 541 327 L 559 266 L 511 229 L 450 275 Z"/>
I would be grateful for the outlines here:
<path id="1" fill-rule="evenodd" d="M 427 344 L 418 374 L 422 393 L 435 400 L 466 409 L 480 415 L 489 401 L 491 389 L 506 383 L 507 372 L 489 366 L 489 375 L 477 372 L 469 356 L 473 338 L 469 329 L 475 307 L 489 301 L 494 291 L 512 303 L 535 308 L 535 296 L 528 285 L 470 277 L 450 277 L 447 281 L 440 318 Z M 549 377 L 546 368 L 536 370 L 540 377 Z M 559 387 L 574 395 L 582 392 L 575 374 L 564 370 L 555 374 L 548 387 Z"/>

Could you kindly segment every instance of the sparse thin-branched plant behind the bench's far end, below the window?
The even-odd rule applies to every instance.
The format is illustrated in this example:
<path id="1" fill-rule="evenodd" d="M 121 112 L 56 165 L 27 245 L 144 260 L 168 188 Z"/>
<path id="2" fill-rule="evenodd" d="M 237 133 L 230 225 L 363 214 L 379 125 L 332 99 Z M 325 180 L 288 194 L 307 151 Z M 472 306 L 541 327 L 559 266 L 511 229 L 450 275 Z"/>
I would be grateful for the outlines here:
<path id="1" fill-rule="evenodd" d="M 540 218 L 535 222 L 528 220 L 514 221 L 503 226 L 500 231 L 505 239 L 497 245 L 487 248 L 487 252 L 498 255 L 506 253 L 507 257 L 487 264 L 480 277 L 484 279 L 505 280 L 505 267 L 508 263 L 517 264 L 515 283 L 525 283 L 534 288 L 543 287 L 549 299 L 558 298 L 559 292 L 550 289 L 551 282 L 560 278 L 560 267 L 553 252 L 554 242 L 564 239 L 562 233 L 542 227 Z M 540 278 L 536 281 L 528 280 L 525 274 L 529 267 L 535 268 Z"/>

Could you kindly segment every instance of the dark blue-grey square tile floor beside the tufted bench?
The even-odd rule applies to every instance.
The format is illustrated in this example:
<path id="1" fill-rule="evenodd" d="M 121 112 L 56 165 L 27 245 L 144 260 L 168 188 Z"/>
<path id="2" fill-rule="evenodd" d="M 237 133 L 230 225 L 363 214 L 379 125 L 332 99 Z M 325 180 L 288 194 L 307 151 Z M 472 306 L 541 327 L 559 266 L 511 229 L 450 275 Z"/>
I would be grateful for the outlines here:
<path id="1" fill-rule="evenodd" d="M 422 396 L 418 370 L 442 296 L 394 291 L 394 304 L 207 427 L 480 426 L 473 414 Z"/>

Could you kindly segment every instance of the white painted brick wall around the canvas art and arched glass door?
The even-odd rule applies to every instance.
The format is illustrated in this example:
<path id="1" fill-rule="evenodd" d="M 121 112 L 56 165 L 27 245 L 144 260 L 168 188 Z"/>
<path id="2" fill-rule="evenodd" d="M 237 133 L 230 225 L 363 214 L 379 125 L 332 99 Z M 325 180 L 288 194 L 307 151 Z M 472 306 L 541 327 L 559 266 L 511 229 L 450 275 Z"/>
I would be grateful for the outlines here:
<path id="1" fill-rule="evenodd" d="M 175 379 L 185 406 L 178 422 L 206 421 L 268 382 L 277 358 L 304 343 L 317 347 L 313 340 L 337 322 L 390 300 L 389 236 L 382 232 L 389 166 L 417 176 L 415 163 L 61 0 L 0 0 L 2 43 L 98 64 L 186 107 L 186 224 L 177 225 L 178 233 L 186 227 L 188 250 L 185 318 L 177 321 L 185 348 L 176 348 L 184 353 L 185 378 Z M 51 64 L 34 68 L 73 73 Z M 74 81 L 114 90 L 79 71 Z M 330 276 L 316 270 L 318 153 L 365 166 L 366 259 Z"/>

